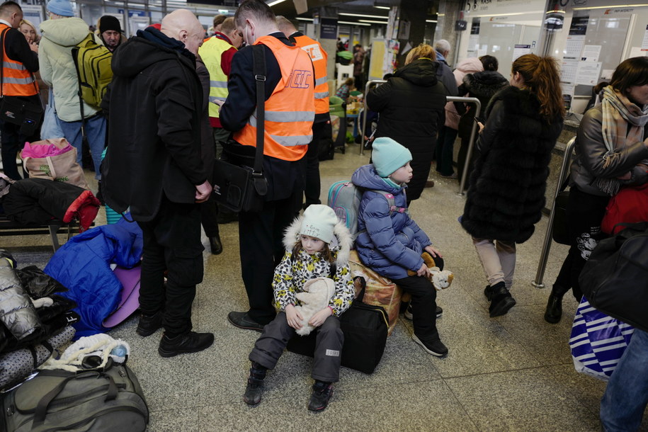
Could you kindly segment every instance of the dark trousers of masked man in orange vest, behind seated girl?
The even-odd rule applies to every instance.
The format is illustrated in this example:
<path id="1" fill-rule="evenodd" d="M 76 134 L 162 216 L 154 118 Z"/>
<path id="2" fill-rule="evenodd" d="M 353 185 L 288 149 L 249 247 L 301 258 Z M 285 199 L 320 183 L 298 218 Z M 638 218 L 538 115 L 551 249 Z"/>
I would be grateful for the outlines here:
<path id="1" fill-rule="evenodd" d="M 268 201 L 261 212 L 239 213 L 241 276 L 250 309 L 249 317 L 268 324 L 275 317 L 272 279 L 283 258 L 283 232 L 297 216 L 302 191 L 283 200 Z"/>

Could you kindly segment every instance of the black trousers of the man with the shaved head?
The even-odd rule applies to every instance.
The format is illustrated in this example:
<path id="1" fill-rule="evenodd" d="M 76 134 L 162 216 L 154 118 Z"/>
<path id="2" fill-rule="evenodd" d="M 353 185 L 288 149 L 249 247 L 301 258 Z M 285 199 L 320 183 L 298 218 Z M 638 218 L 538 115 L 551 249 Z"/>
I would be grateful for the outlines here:
<path id="1" fill-rule="evenodd" d="M 163 197 L 156 217 L 137 224 L 144 234 L 140 309 L 147 315 L 164 309 L 167 336 L 185 334 L 192 329 L 195 285 L 203 281 L 200 208 Z"/>

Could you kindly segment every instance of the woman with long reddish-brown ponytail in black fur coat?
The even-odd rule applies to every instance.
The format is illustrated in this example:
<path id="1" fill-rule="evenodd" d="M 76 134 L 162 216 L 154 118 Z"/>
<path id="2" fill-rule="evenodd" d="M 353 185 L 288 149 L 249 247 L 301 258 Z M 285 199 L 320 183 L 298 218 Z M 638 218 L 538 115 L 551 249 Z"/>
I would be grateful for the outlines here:
<path id="1" fill-rule="evenodd" d="M 491 317 L 506 314 L 516 304 L 509 292 L 516 243 L 531 237 L 542 216 L 551 151 L 564 118 L 554 59 L 518 57 L 510 82 L 486 109 L 460 218 L 489 283 L 484 295 L 491 302 Z"/>

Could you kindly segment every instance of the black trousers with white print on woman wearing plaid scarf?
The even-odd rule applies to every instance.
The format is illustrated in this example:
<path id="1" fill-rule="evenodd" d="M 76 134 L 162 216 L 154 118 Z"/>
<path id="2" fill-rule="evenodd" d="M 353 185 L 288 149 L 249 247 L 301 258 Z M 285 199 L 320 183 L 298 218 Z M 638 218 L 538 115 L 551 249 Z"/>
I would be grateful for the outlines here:
<path id="1" fill-rule="evenodd" d="M 606 234 L 601 232 L 601 221 L 606 214 L 609 200 L 608 196 L 591 195 L 576 186 L 569 189 L 567 229 L 572 244 L 567 258 L 562 263 L 555 285 L 562 287 L 563 290 L 572 288 L 572 294 L 577 302 L 580 302 L 583 296 L 578 280 L 579 275 L 598 241 L 606 237 Z"/>

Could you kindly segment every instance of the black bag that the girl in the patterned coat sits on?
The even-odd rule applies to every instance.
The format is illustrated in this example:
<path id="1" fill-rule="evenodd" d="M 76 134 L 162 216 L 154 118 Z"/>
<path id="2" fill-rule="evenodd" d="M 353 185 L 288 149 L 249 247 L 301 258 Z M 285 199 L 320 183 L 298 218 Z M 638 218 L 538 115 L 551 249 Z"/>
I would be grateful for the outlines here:
<path id="1" fill-rule="evenodd" d="M 356 276 L 353 283 L 360 283 L 360 294 L 353 300 L 351 307 L 340 317 L 340 328 L 344 334 L 341 363 L 345 368 L 373 373 L 387 343 L 387 312 L 380 306 L 363 303 L 364 278 Z M 308 336 L 293 336 L 286 348 L 292 353 L 312 357 L 315 352 L 315 333 Z"/>

